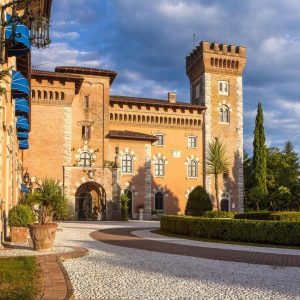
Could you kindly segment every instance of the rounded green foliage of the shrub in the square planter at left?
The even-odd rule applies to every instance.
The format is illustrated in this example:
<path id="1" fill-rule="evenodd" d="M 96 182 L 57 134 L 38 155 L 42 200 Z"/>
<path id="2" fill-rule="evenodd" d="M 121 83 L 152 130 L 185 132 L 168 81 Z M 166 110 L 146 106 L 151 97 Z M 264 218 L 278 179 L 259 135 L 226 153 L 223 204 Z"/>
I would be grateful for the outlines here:
<path id="1" fill-rule="evenodd" d="M 27 205 L 17 205 L 8 214 L 8 225 L 10 227 L 27 227 L 34 223 L 35 217 L 31 208 Z"/>

